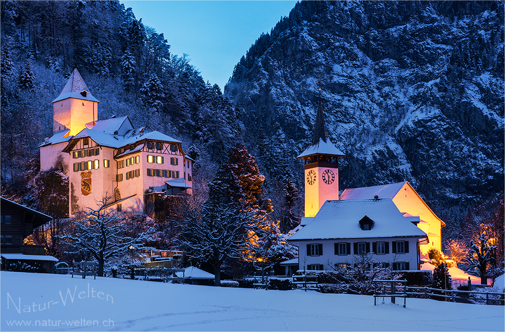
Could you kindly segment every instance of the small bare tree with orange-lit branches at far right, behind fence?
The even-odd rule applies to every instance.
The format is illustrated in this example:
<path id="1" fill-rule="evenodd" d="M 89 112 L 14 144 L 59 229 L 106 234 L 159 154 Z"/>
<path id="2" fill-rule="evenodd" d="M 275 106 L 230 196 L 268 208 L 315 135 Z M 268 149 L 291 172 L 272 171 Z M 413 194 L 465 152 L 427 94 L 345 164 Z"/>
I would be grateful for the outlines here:
<path id="1" fill-rule="evenodd" d="M 470 244 L 470 256 L 467 258 L 467 263 L 471 271 L 478 273 L 481 284 L 487 284 L 488 269 L 496 259 L 495 250 L 496 246 L 491 244 L 486 227 L 480 227 Z"/>

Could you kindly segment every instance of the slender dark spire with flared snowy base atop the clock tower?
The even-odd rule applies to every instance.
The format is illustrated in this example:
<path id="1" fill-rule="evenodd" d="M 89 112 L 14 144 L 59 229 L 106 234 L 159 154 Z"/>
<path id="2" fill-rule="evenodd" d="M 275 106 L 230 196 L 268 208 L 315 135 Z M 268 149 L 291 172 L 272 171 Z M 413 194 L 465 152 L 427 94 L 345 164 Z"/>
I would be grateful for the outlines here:
<path id="1" fill-rule="evenodd" d="M 303 157 L 316 154 L 345 157 L 345 155 L 339 149 L 337 149 L 337 147 L 335 147 L 332 141 L 328 138 L 328 132 L 326 131 L 325 123 L 325 113 L 323 112 L 323 105 L 321 104 L 321 89 L 319 89 L 319 107 L 317 108 L 317 115 L 315 118 L 312 145 L 307 147 L 307 149 L 305 149 L 305 151 L 296 158 L 301 159 Z"/>

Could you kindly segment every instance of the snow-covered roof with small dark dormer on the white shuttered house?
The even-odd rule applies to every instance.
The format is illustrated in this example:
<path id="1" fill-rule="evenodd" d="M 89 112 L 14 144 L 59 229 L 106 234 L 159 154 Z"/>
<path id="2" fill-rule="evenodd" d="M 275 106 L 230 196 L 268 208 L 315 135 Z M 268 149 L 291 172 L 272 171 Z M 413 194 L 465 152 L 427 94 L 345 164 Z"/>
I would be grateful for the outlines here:
<path id="1" fill-rule="evenodd" d="M 374 221 L 362 230 L 359 220 Z M 314 220 L 293 234 L 289 241 L 369 238 L 424 238 L 426 233 L 403 217 L 391 199 L 326 201 Z"/>

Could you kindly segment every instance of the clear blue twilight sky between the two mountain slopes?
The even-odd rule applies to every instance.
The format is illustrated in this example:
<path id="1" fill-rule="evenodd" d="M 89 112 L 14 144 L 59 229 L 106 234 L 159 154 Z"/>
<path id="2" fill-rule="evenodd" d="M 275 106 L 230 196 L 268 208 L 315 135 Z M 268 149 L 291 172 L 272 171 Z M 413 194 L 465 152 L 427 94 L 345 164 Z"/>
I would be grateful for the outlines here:
<path id="1" fill-rule="evenodd" d="M 135 18 L 163 33 L 170 52 L 188 54 L 205 81 L 221 90 L 262 32 L 270 32 L 296 1 L 121 1 Z"/>

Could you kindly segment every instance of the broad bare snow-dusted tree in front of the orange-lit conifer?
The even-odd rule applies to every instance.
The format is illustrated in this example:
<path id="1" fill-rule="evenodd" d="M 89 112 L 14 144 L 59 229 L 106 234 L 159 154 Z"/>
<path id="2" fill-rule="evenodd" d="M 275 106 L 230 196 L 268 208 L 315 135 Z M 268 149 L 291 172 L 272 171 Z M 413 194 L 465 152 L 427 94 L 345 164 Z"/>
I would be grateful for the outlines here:
<path id="1" fill-rule="evenodd" d="M 234 203 L 209 200 L 198 209 L 188 209 L 176 222 L 180 248 L 188 257 L 211 264 L 215 286 L 220 286 L 221 264 L 226 258 L 241 258 L 250 248 L 258 220 Z"/>

